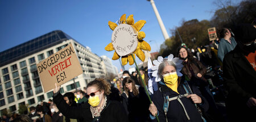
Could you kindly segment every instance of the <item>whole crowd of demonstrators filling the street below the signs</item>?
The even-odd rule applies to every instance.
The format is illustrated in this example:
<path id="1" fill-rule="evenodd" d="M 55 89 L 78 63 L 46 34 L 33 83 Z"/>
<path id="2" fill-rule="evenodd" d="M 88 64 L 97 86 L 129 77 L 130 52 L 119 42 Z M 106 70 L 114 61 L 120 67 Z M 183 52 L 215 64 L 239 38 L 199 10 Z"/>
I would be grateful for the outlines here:
<path id="1" fill-rule="evenodd" d="M 96 78 L 83 90 L 60 94 L 29 108 L 29 114 L 3 115 L 1 121 L 251 121 L 256 115 L 256 26 L 222 28 L 220 40 L 197 49 L 177 48 L 176 57 L 153 61 L 157 90 L 147 94 L 147 67 L 125 70 L 112 81 Z M 227 117 L 216 104 L 208 67 L 223 70 Z M 139 73 L 141 75 L 139 75 Z M 150 102 L 152 99 L 152 103 Z"/>

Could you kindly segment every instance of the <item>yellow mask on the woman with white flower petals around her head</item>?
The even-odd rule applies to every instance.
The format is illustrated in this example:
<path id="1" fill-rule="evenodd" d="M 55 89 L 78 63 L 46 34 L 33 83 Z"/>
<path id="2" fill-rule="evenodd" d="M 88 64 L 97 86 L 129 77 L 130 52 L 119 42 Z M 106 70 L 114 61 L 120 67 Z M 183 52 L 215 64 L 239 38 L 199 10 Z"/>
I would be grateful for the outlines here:
<path id="1" fill-rule="evenodd" d="M 164 83 L 166 83 L 166 86 L 172 89 L 173 91 L 177 92 L 177 73 L 169 73 L 163 75 Z M 179 93 L 179 92 L 177 92 Z"/>

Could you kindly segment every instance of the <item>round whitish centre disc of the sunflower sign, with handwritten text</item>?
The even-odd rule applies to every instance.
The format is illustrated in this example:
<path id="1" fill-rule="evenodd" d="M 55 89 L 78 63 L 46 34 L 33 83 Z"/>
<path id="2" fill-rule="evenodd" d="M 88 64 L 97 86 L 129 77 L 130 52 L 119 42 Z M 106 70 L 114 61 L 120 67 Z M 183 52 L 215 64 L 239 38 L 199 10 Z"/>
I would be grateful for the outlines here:
<path id="1" fill-rule="evenodd" d="M 119 56 L 135 51 L 138 45 L 138 32 L 129 24 L 120 24 L 112 33 L 112 44 Z"/>

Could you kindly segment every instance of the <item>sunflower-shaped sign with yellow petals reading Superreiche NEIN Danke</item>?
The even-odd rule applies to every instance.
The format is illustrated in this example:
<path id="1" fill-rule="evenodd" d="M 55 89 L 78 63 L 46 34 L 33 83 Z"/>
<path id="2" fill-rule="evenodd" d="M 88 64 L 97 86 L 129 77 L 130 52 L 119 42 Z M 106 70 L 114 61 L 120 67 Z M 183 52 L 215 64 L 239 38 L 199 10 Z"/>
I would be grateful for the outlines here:
<path id="1" fill-rule="evenodd" d="M 112 60 L 118 60 L 122 56 L 122 65 L 126 65 L 127 62 L 130 65 L 134 64 L 131 54 L 133 56 L 136 54 L 141 61 L 144 61 L 145 54 L 142 50 L 151 51 L 150 45 L 143 40 L 145 33 L 140 31 L 146 21 L 139 20 L 134 24 L 133 15 L 126 19 L 126 14 L 123 14 L 118 23 L 119 25 L 110 21 L 108 23 L 113 33 L 112 42 L 105 47 L 105 50 L 115 50 Z"/>

